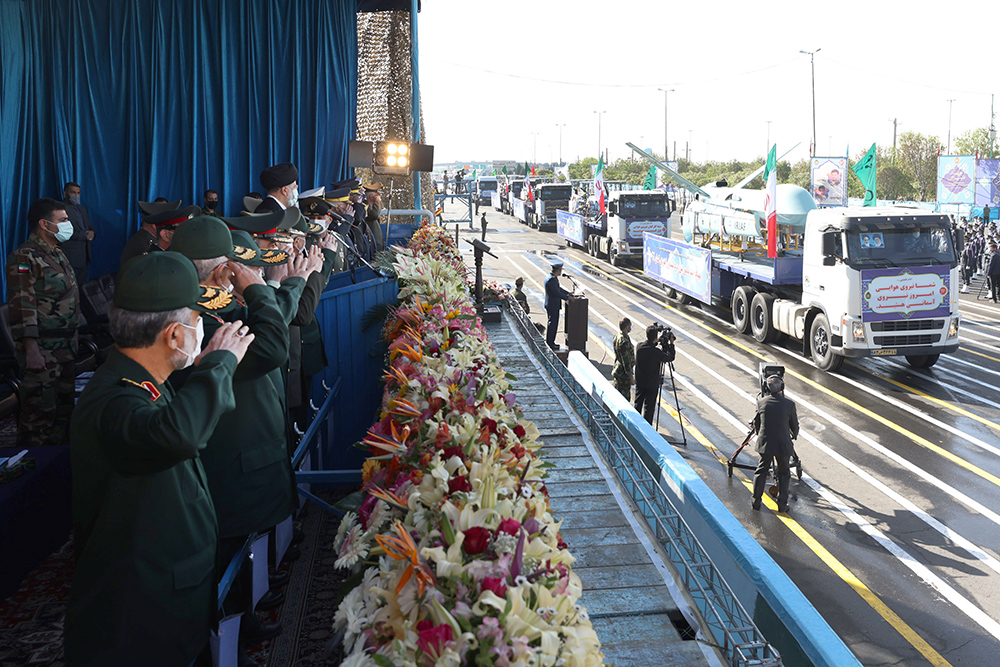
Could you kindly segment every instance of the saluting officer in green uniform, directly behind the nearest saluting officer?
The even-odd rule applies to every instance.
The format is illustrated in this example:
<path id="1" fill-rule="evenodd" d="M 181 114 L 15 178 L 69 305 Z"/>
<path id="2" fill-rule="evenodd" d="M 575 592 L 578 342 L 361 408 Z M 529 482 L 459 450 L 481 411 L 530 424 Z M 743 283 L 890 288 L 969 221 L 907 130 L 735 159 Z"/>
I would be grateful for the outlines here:
<path id="1" fill-rule="evenodd" d="M 225 567 L 251 533 L 264 534 L 288 517 L 297 499 L 288 458 L 284 389 L 281 374 L 288 360 L 288 322 L 282 303 L 297 304 L 305 287 L 305 258 L 297 259 L 285 273 L 279 289 L 265 284 L 257 270 L 236 261 L 227 223 L 258 220 L 277 226 L 284 211 L 260 218 L 199 216 L 182 223 L 171 250 L 190 258 L 203 284 L 233 289 L 238 303 L 221 317 L 202 318 L 206 334 L 225 321 L 246 322 L 256 335 L 246 358 L 233 376 L 236 409 L 223 415 L 209 438 L 202 462 L 219 520 L 219 563 Z M 287 307 L 286 307 L 287 309 Z M 186 384 L 186 383 L 185 383 Z M 230 595 L 230 612 L 245 612 L 240 624 L 244 643 L 275 636 L 280 624 L 261 623 L 250 605 L 250 586 L 241 579 Z M 280 604 L 283 596 L 271 591 L 265 606 Z"/>

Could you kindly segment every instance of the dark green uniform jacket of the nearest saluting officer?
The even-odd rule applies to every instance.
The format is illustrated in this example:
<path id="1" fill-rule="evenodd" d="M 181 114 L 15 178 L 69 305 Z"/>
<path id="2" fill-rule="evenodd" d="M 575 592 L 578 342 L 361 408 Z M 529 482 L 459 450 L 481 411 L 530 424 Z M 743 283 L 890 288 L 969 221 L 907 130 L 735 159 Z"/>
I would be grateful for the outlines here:
<path id="1" fill-rule="evenodd" d="M 178 667 L 207 644 L 218 531 L 198 454 L 235 405 L 235 371 L 213 352 L 175 393 L 115 349 L 84 389 L 70 430 L 74 667 Z"/>

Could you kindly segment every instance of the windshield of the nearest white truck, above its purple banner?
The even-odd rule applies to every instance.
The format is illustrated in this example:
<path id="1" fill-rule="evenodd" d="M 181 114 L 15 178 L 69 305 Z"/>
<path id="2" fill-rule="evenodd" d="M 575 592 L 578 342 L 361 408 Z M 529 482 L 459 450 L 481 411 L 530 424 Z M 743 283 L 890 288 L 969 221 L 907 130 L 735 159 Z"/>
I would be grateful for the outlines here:
<path id="1" fill-rule="evenodd" d="M 847 262 L 859 268 L 957 264 L 948 228 L 927 224 L 849 229 Z"/>

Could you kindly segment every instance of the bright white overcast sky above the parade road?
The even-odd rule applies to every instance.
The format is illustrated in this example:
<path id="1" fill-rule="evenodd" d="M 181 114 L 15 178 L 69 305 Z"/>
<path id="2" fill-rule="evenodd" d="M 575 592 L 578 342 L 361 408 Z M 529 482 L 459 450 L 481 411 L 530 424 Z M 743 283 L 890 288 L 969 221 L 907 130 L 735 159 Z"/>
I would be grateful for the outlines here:
<path id="1" fill-rule="evenodd" d="M 626 141 L 683 156 L 792 162 L 852 157 L 899 133 L 990 124 L 996 10 L 716 0 L 423 0 L 420 87 L 436 163 L 627 157 Z M 977 18 L 978 17 L 978 18 Z M 993 31 L 995 32 L 995 31 Z M 949 100 L 954 100 L 949 103 Z M 1000 107 L 1000 99 L 997 100 Z M 595 113 L 601 112 L 601 113 Z M 600 128 L 598 127 L 600 120 Z M 770 121 L 770 123 L 768 122 Z M 561 148 L 560 148 L 561 134 Z M 600 141 L 600 144 L 598 143 Z"/>

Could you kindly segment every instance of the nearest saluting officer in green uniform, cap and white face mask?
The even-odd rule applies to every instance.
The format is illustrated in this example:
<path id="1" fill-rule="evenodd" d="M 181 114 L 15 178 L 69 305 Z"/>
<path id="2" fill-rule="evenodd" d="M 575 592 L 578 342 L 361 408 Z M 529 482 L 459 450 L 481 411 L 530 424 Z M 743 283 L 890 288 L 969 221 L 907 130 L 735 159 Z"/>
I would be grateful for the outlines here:
<path id="1" fill-rule="evenodd" d="M 198 456 L 235 405 L 233 373 L 253 335 L 234 321 L 200 352 L 197 311 L 231 301 L 199 287 L 177 253 L 139 257 L 119 274 L 116 347 L 71 425 L 76 569 L 65 644 L 74 667 L 180 667 L 207 648 L 218 530 Z M 167 377 L 192 362 L 175 391 Z"/>

